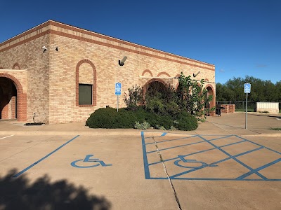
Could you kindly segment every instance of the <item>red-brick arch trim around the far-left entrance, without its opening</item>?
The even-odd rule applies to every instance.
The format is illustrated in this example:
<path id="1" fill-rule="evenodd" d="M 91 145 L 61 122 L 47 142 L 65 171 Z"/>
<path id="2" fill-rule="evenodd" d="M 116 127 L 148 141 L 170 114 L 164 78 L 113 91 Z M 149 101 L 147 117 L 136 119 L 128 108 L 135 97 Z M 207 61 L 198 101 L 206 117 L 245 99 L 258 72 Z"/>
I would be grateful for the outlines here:
<path id="1" fill-rule="evenodd" d="M 27 120 L 27 94 L 23 92 L 20 81 L 8 73 L 0 73 L 0 77 L 8 78 L 13 81 L 15 88 L 17 89 L 17 95 L 18 95 L 18 99 L 17 99 L 18 121 L 26 121 Z"/>

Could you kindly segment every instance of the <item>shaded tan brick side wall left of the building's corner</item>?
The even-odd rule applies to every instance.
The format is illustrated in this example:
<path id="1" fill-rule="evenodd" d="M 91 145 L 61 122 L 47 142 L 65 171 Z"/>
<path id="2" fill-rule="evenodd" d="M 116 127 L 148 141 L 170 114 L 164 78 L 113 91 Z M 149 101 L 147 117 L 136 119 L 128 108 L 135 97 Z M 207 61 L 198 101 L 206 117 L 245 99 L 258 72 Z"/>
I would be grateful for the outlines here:
<path id="1" fill-rule="evenodd" d="M 14 46 L 2 43 L 0 66 L 4 69 L 14 68 L 15 71 L 19 68 L 27 69 L 27 81 L 22 84 L 27 93 L 27 121 L 32 122 L 33 113 L 36 113 L 35 120 L 48 123 L 49 55 L 48 50 L 43 53 L 42 46 L 48 48 L 50 35 L 39 33 L 40 30 L 35 31 L 33 34 L 36 37 L 25 43 L 22 43 L 22 38 L 15 39 L 12 41 Z M 26 35 L 27 39 L 30 36 Z"/>

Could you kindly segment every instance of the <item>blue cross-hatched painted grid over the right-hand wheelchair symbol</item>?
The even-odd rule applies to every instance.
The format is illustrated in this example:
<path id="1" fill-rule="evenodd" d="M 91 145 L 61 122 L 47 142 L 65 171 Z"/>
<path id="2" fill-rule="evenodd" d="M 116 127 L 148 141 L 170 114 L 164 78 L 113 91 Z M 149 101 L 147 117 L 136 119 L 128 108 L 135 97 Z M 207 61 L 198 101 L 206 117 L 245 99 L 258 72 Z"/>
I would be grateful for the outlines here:
<path id="1" fill-rule="evenodd" d="M 185 135 L 185 134 L 183 134 Z M 192 142 L 192 143 L 189 143 L 189 144 L 183 144 L 183 142 L 181 141 L 181 144 L 182 145 L 177 145 L 177 146 L 170 146 L 168 148 L 162 148 L 162 149 L 159 149 L 159 151 L 168 151 L 168 150 L 171 150 L 169 151 L 169 154 L 171 153 L 174 153 L 174 157 L 175 158 L 169 158 L 169 159 L 166 159 L 166 160 L 162 160 L 162 161 L 159 161 L 159 162 L 149 162 L 148 161 L 148 154 L 151 154 L 151 153 L 155 153 L 156 151 L 147 151 L 147 148 L 146 148 L 146 145 L 148 144 L 151 144 L 150 142 L 148 143 L 145 143 L 145 139 L 149 139 L 151 137 L 145 137 L 145 132 L 141 132 L 141 137 L 142 137 L 142 143 L 143 143 L 143 162 L 144 162 L 144 169 L 145 169 L 145 179 L 166 179 L 166 177 L 151 177 L 150 176 L 150 169 L 151 167 L 153 167 L 154 165 L 157 165 L 157 164 L 160 164 L 162 162 L 171 162 L 171 161 L 174 161 L 174 167 L 182 167 L 183 169 L 185 168 L 188 168 L 187 170 L 185 170 L 185 172 L 177 172 L 178 174 L 174 174 L 173 176 L 170 176 L 171 179 L 181 179 L 181 180 L 228 180 L 228 181 L 281 181 L 281 177 L 276 177 L 277 179 L 275 179 L 275 177 L 273 177 L 273 179 L 268 179 L 266 177 L 266 174 L 263 174 L 263 172 L 259 172 L 261 171 L 262 169 L 266 169 L 267 167 L 270 167 L 272 165 L 275 165 L 277 162 L 280 162 L 281 161 L 281 158 L 278 158 L 277 159 L 273 159 L 273 161 L 268 161 L 268 163 L 264 164 L 263 166 L 261 167 L 251 167 L 249 166 L 249 164 L 245 164 L 244 162 L 242 162 L 241 160 L 238 160 L 237 157 L 240 157 L 242 155 L 247 155 L 249 153 L 254 153 L 255 151 L 260 151 L 261 149 L 266 149 L 271 152 L 274 152 L 274 153 L 277 153 L 279 155 L 281 155 L 280 152 L 278 151 L 275 151 L 271 148 L 268 148 L 266 146 L 262 146 L 261 144 L 256 144 L 255 142 L 253 141 L 249 141 L 247 139 L 244 139 L 242 137 L 239 137 L 237 135 L 224 135 L 224 136 L 221 136 L 221 137 L 218 137 L 216 139 L 209 139 L 207 140 L 206 138 L 204 138 L 204 136 L 215 136 L 215 137 L 218 137 L 218 135 L 192 135 L 191 137 L 183 137 L 183 138 L 177 138 L 177 139 L 173 139 L 173 137 L 171 137 L 171 139 L 169 140 L 164 140 L 164 141 L 158 141 L 157 144 L 161 145 L 163 142 L 167 142 L 167 141 L 170 141 L 171 144 L 174 144 L 176 142 L 176 140 L 186 140 L 185 143 L 188 143 L 188 141 L 190 141 L 190 139 L 192 139 L 192 137 L 195 137 L 197 138 L 197 142 Z M 229 142 L 232 142 L 232 143 L 229 143 L 227 144 L 228 142 L 228 138 L 231 137 L 229 139 Z M 158 137 L 159 139 L 159 137 Z M 160 138 L 161 139 L 161 138 Z M 159 140 L 160 140 L 159 139 Z M 202 139 L 203 141 L 200 141 L 200 139 Z M 217 146 L 216 143 L 214 144 L 213 142 L 216 142 L 216 140 L 218 139 L 221 139 L 221 140 L 226 140 L 226 142 L 224 142 L 224 145 L 222 146 Z M 199 141 L 198 141 L 199 140 Z M 234 141 L 234 142 L 233 142 Z M 240 144 L 243 144 L 247 142 L 248 144 L 251 143 L 251 145 L 254 145 L 256 148 L 251 148 L 249 149 L 248 148 L 248 151 L 241 151 L 240 153 L 236 154 L 236 155 L 231 155 L 230 153 L 228 153 L 226 150 L 224 150 L 223 148 L 225 147 L 228 147 L 228 146 L 234 146 L 234 145 L 240 145 Z M 202 151 L 196 151 L 193 153 L 188 153 L 188 154 L 185 154 L 185 155 L 178 155 L 176 154 L 176 150 L 172 150 L 174 148 L 181 148 L 181 147 L 184 147 L 186 146 L 187 148 L 187 151 L 188 151 L 188 148 L 189 147 L 192 147 L 192 146 L 195 146 L 195 144 L 202 144 L 202 143 L 207 143 L 209 145 L 212 146 L 212 148 L 208 148 L 208 149 L 204 149 Z M 221 144 L 221 142 L 219 143 Z M 237 150 L 239 152 L 239 147 L 237 147 Z M 203 162 L 202 160 L 194 160 L 195 158 L 192 157 L 193 159 L 192 160 L 188 160 L 188 159 L 185 159 L 185 157 L 188 157 L 190 155 L 197 155 L 197 154 L 200 154 L 200 153 L 204 153 L 204 152 L 207 152 L 207 151 L 219 151 L 221 153 L 223 153 L 224 155 L 226 155 L 227 158 L 223 158 L 221 160 L 217 160 L 216 162 L 211 162 L 211 163 L 207 163 L 206 161 Z M 276 156 L 276 155 L 275 155 Z M 247 157 L 247 156 L 246 156 Z M 163 157 L 164 158 L 164 157 Z M 259 158 L 259 157 L 257 157 Z M 274 157 L 273 157 L 274 158 Z M 276 157 L 275 157 L 276 158 Z M 201 177 L 201 178 L 195 178 L 195 177 L 181 177 L 182 175 L 184 174 L 188 174 L 190 172 L 195 172 L 195 171 L 198 171 L 200 169 L 204 169 L 206 167 L 214 167 L 214 166 L 217 166 L 218 163 L 221 163 L 221 162 L 226 162 L 227 160 L 234 160 L 235 162 L 237 162 L 239 165 L 242 165 L 242 167 L 246 168 L 247 170 L 249 170 L 249 172 L 245 173 L 245 172 L 242 172 L 242 174 L 237 174 L 237 178 L 234 178 L 234 179 L 229 179 L 229 178 L 224 178 L 224 177 L 221 177 L 221 178 L 208 178 L 208 177 Z M 182 162 L 181 164 L 179 164 L 178 162 Z M 183 164 L 183 165 L 182 165 Z M 199 166 L 197 167 L 191 167 L 190 165 L 192 164 L 199 164 Z M 188 165 L 188 166 L 187 166 Z M 170 165 L 171 166 L 171 165 Z M 204 171 L 203 171 L 204 172 Z M 252 174 L 256 174 L 257 176 L 261 177 L 261 179 L 247 179 L 248 176 L 251 176 Z"/>

